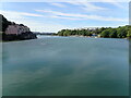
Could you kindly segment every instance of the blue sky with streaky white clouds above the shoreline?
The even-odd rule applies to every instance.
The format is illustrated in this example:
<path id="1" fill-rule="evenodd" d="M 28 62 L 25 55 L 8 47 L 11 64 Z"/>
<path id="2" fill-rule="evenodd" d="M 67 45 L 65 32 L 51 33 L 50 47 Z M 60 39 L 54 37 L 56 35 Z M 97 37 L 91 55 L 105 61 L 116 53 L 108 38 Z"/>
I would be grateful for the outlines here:
<path id="1" fill-rule="evenodd" d="M 60 1 L 60 0 L 59 0 Z M 117 27 L 129 24 L 129 2 L 2 2 L 0 13 L 32 32 L 66 28 Z"/>

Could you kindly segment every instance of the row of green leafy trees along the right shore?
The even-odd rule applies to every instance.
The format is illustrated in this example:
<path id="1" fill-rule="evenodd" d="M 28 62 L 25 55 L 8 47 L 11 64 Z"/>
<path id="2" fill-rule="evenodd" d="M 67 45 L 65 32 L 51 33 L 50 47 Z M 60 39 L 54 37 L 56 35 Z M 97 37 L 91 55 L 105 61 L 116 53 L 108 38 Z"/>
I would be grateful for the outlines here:
<path id="1" fill-rule="evenodd" d="M 131 38 L 131 26 L 119 26 L 117 28 L 83 28 L 83 29 L 62 29 L 58 32 L 59 36 L 98 36 L 103 38 Z"/>

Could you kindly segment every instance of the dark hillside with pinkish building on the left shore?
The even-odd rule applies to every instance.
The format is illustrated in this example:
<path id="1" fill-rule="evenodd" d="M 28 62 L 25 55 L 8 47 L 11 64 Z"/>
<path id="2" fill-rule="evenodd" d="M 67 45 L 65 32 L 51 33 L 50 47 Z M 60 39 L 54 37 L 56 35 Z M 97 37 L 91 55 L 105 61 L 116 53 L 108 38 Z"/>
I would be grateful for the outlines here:
<path id="1" fill-rule="evenodd" d="M 0 40 L 10 41 L 35 38 L 37 38 L 36 34 L 33 34 L 27 26 L 10 22 L 0 14 Z"/>

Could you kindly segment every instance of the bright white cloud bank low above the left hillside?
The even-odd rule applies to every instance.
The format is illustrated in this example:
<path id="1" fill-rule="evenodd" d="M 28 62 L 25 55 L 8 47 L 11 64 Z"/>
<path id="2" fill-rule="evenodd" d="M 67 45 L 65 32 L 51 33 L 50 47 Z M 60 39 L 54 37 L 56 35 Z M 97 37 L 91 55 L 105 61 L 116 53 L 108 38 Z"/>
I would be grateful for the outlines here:
<path id="1" fill-rule="evenodd" d="M 3 14 L 9 21 L 28 26 L 32 32 L 57 33 L 58 30 L 68 27 L 59 23 L 52 23 L 52 22 L 48 23 L 48 21 L 45 23 L 34 19 L 26 17 L 26 16 L 46 17 L 40 14 L 16 12 L 16 11 L 1 11 L 1 10 L 0 13 Z"/>

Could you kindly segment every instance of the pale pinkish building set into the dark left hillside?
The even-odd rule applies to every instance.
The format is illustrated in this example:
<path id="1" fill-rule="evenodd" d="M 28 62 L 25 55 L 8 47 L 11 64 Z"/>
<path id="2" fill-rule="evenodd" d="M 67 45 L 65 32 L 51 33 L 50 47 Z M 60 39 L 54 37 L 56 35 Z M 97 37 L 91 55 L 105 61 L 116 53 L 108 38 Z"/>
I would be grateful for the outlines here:
<path id="1" fill-rule="evenodd" d="M 19 24 L 9 25 L 8 28 L 5 29 L 5 34 L 8 35 L 10 34 L 20 35 L 22 33 L 28 33 L 28 32 L 31 30 L 27 26 L 19 25 Z"/>

